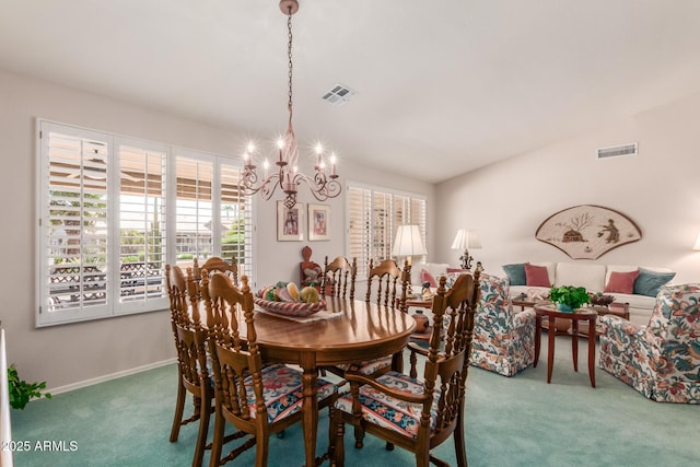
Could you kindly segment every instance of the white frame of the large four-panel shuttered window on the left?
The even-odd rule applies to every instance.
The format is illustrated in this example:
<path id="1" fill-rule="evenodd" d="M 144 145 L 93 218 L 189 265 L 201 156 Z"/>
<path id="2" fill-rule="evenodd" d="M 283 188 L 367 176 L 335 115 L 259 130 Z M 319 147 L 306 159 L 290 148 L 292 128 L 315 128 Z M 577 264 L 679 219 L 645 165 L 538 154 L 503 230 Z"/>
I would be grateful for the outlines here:
<path id="1" fill-rule="evenodd" d="M 79 152 L 73 153 L 74 159 L 78 160 L 75 164 L 80 164 L 80 166 L 77 167 L 79 170 L 79 174 L 77 176 L 71 177 L 71 178 L 77 178 L 77 182 L 72 184 L 72 187 L 70 185 L 69 187 L 71 187 L 73 191 L 75 190 L 79 191 L 79 195 L 75 196 L 75 200 L 78 202 L 77 209 L 79 211 L 79 214 L 75 214 L 75 218 L 77 218 L 75 220 L 78 219 L 81 220 L 81 223 L 79 224 L 80 233 L 77 234 L 80 237 L 80 241 L 77 243 L 78 246 L 74 248 L 75 250 L 78 250 L 74 254 L 78 257 L 78 262 L 75 267 L 79 268 L 79 271 L 78 271 L 79 280 L 77 281 L 79 285 L 77 287 L 80 288 L 80 291 L 75 293 L 75 295 L 78 295 L 78 299 L 75 300 L 78 304 L 74 304 L 71 297 L 71 300 L 68 302 L 68 305 L 66 307 L 63 308 L 57 307 L 54 310 L 51 310 L 54 305 L 49 304 L 50 303 L 49 300 L 51 297 L 50 295 L 51 283 L 50 283 L 49 275 L 51 273 L 51 269 L 56 269 L 55 265 L 63 264 L 63 265 L 70 266 L 71 264 L 70 262 L 51 262 L 51 261 L 55 261 L 54 258 L 57 258 L 57 257 L 60 258 L 61 255 L 62 257 L 67 257 L 66 256 L 68 254 L 66 252 L 67 248 L 63 245 L 69 245 L 69 244 L 68 243 L 63 244 L 60 241 L 60 237 L 61 235 L 63 235 L 63 233 L 59 233 L 58 249 L 60 252 L 57 254 L 56 253 L 57 247 L 55 246 L 56 243 L 54 243 L 56 241 L 56 235 L 51 236 L 52 234 L 50 231 L 51 219 L 60 219 L 60 215 L 59 218 L 57 218 L 58 214 L 56 214 L 56 210 L 55 209 L 51 210 L 50 208 L 51 200 L 56 199 L 54 198 L 56 196 L 55 187 L 60 185 L 60 182 L 56 183 L 56 180 L 60 180 L 60 178 L 55 178 L 54 182 L 50 180 L 51 177 L 56 177 L 55 175 L 51 174 L 51 172 L 55 171 L 57 166 L 51 164 L 56 164 L 57 159 L 60 162 L 60 159 L 59 159 L 60 156 L 56 156 L 55 154 L 51 155 L 51 153 L 49 153 L 49 149 L 51 148 L 51 144 L 52 144 L 49 138 L 50 133 L 58 133 L 59 136 L 66 136 L 69 139 L 79 140 L 75 142 L 75 148 L 79 149 Z M 243 195 L 236 194 L 235 191 L 232 191 L 232 186 L 236 184 L 237 176 L 240 175 L 240 172 L 242 170 L 238 161 L 225 155 L 209 153 L 205 151 L 196 151 L 196 150 L 180 148 L 172 144 L 148 141 L 140 138 L 120 136 L 120 135 L 109 133 L 106 131 L 89 129 L 89 128 L 69 125 L 69 124 L 56 122 L 52 120 L 40 119 L 40 118 L 36 119 L 35 140 L 37 141 L 35 156 L 36 156 L 37 167 L 38 167 L 38 170 L 36 171 L 36 190 L 35 190 L 35 194 L 37 197 L 36 209 L 35 209 L 35 212 L 37 215 L 35 245 L 38 246 L 38 252 L 36 254 L 36 260 L 35 260 L 35 268 L 36 268 L 35 276 L 37 279 L 36 287 L 35 287 L 35 303 L 36 303 L 35 326 L 37 328 L 167 310 L 168 297 L 167 297 L 167 291 L 165 288 L 165 264 L 177 262 L 177 245 L 176 245 L 177 187 L 176 187 L 175 180 L 176 180 L 177 160 L 180 156 L 187 157 L 187 159 L 206 160 L 210 162 L 212 165 L 212 171 L 213 171 L 212 187 L 211 187 L 212 190 L 211 190 L 210 199 L 208 201 L 210 203 L 210 211 L 211 211 L 210 221 L 211 221 L 212 232 L 221 232 L 221 235 L 212 235 L 212 240 L 213 240 L 212 248 L 209 252 L 211 256 L 221 256 L 221 253 L 222 253 L 221 247 L 223 243 L 223 237 L 222 237 L 223 230 L 221 229 L 221 225 L 222 225 L 221 217 L 223 211 L 220 209 L 221 208 L 220 199 L 221 199 L 223 184 L 221 182 L 221 178 L 222 178 L 221 170 L 222 167 L 225 166 L 228 177 L 229 177 L 226 182 L 228 196 L 234 197 L 234 198 L 236 196 L 240 197 L 237 198 L 240 200 L 238 209 L 234 209 L 234 210 L 240 213 L 241 215 L 240 219 L 242 219 L 242 223 L 243 223 L 242 224 L 243 242 L 238 243 L 240 241 L 235 241 L 237 245 L 234 249 L 235 252 L 238 252 L 238 254 L 241 252 L 245 254 L 245 257 L 243 258 L 246 261 L 245 272 L 248 276 L 253 277 L 255 271 L 254 260 L 256 257 L 256 254 L 255 254 L 255 203 L 253 202 L 250 197 L 245 197 Z M 103 300 L 102 297 L 97 300 L 85 299 L 85 295 L 84 295 L 85 283 L 86 283 L 84 280 L 86 278 L 85 265 L 90 264 L 85 260 L 85 258 L 88 257 L 85 250 L 90 248 L 88 248 L 86 247 L 88 244 L 83 242 L 83 236 L 84 236 L 86 226 L 84 223 L 84 217 L 82 214 L 82 212 L 88 209 L 85 208 L 88 203 L 85 203 L 86 197 L 84 195 L 85 194 L 84 185 L 86 185 L 85 180 L 90 180 L 89 177 L 84 176 L 85 165 L 86 165 L 85 164 L 86 152 L 83 149 L 83 147 L 86 140 L 88 142 L 96 141 L 100 144 L 104 143 L 105 151 L 106 151 L 106 154 L 103 157 L 105 161 L 104 164 L 106 165 L 106 170 L 104 171 L 106 175 L 106 178 L 104 180 L 105 188 L 104 188 L 104 192 L 102 192 L 101 195 L 103 198 L 100 198 L 101 199 L 100 202 L 101 203 L 104 202 L 106 206 L 104 208 L 104 210 L 106 210 L 106 218 L 105 218 L 106 226 L 102 227 L 106 231 L 106 235 L 105 235 L 106 240 L 103 241 L 103 242 L 106 242 L 106 245 L 102 244 L 102 247 L 105 249 L 104 255 L 106 259 L 104 260 L 104 264 L 102 264 L 98 268 L 95 268 L 95 269 L 101 269 L 105 271 L 105 272 L 102 272 L 102 275 L 104 275 L 104 279 L 100 278 L 98 280 L 104 281 L 104 284 L 102 285 L 100 291 L 104 293 L 106 303 L 102 303 L 102 300 Z M 149 287 L 148 287 L 149 279 L 147 276 L 147 279 L 145 279 L 147 287 L 143 290 L 141 290 L 140 297 L 127 296 L 127 294 L 125 293 L 125 287 L 127 285 L 125 285 L 124 277 L 121 275 L 122 266 L 125 264 L 130 262 L 130 261 L 124 262 L 125 258 L 122 257 L 124 256 L 122 246 L 125 244 L 122 243 L 122 240 L 124 240 L 122 230 L 127 230 L 130 227 L 124 226 L 127 224 L 128 221 L 124 215 L 120 215 L 121 209 L 124 208 L 121 205 L 121 197 L 128 195 L 128 192 L 125 191 L 125 188 L 122 188 L 122 184 L 125 179 L 121 173 L 122 167 L 120 165 L 120 156 L 122 154 L 122 151 L 124 153 L 126 153 L 127 149 L 129 148 L 136 149 L 138 151 L 143 151 L 144 154 L 156 152 L 155 155 L 162 157 L 160 161 L 161 163 L 160 184 L 161 185 L 160 187 L 155 188 L 155 190 L 160 192 L 160 195 L 156 195 L 155 197 L 160 198 L 162 201 L 159 209 L 154 211 L 154 212 L 159 210 L 161 211 L 156 215 L 156 218 L 160 220 L 159 222 L 162 222 L 161 225 L 164 225 L 164 232 L 162 231 L 159 237 L 160 238 L 159 243 L 161 246 L 159 250 L 154 254 L 154 257 L 156 258 L 155 262 L 158 262 L 158 266 L 156 266 L 158 275 L 156 275 L 156 278 L 153 280 L 154 293 L 151 294 L 149 290 Z M 56 159 L 52 159 L 52 157 L 56 157 Z M 144 156 L 144 161 L 148 161 L 148 157 Z M 74 171 L 75 168 L 66 164 L 63 164 L 62 167 L 68 167 L 69 171 L 70 170 Z M 62 168 L 62 167 L 59 167 L 59 168 Z M 155 174 L 155 172 L 151 172 L 151 168 L 149 168 L 149 166 L 145 165 L 144 175 L 143 175 L 144 187 L 147 186 L 145 180 L 151 173 Z M 150 208 L 149 199 L 151 199 L 152 197 L 152 195 L 149 194 L 149 190 L 150 188 L 144 188 L 144 198 L 142 202 L 142 206 L 144 209 L 142 211 L 138 210 L 138 205 L 139 205 L 138 196 L 140 195 L 137 194 L 135 196 L 137 210 L 131 212 L 136 212 L 137 214 L 143 213 L 144 218 L 149 214 L 149 208 Z M 229 202 L 229 205 L 233 205 L 235 208 L 236 202 L 232 201 L 232 202 Z M 70 207 L 71 205 L 68 205 L 68 206 Z M 100 208 L 103 208 L 103 207 L 100 207 Z M 245 211 L 246 209 L 247 209 L 247 212 Z M 54 212 L 52 218 L 51 218 L 51 212 Z M 61 213 L 61 215 L 65 215 L 65 214 Z M 148 221 L 144 220 L 143 227 L 142 227 L 144 233 L 148 232 L 147 225 L 148 225 Z M 93 223 L 90 224 L 90 229 L 88 230 L 89 231 L 93 230 L 92 227 L 94 227 L 94 230 L 98 230 L 98 227 L 96 227 L 95 224 Z M 63 227 L 60 227 L 60 229 L 63 230 Z M 151 229 L 159 229 L 159 227 L 151 227 Z M 241 233 L 240 229 L 241 227 L 237 227 L 236 232 Z M 137 227 L 136 230 L 139 231 L 140 229 Z M 65 234 L 65 236 L 67 238 L 69 237 L 68 234 Z M 143 241 L 143 244 L 140 246 L 141 248 L 144 249 L 144 248 L 150 248 L 149 245 L 151 245 L 149 243 L 149 237 L 145 237 Z M 144 265 L 148 266 L 148 264 L 145 262 L 148 261 L 148 258 L 149 258 L 148 252 L 142 252 L 142 253 L 144 255 Z M 198 257 L 199 259 L 203 259 L 200 253 L 201 252 L 197 250 L 195 253 L 195 256 Z M 160 284 L 155 283 L 158 282 L 159 279 L 161 281 Z M 89 303 L 91 300 L 95 300 L 94 303 L 98 303 L 98 304 L 95 305 L 93 303 Z M 84 304 L 86 304 L 88 306 L 84 306 Z"/>

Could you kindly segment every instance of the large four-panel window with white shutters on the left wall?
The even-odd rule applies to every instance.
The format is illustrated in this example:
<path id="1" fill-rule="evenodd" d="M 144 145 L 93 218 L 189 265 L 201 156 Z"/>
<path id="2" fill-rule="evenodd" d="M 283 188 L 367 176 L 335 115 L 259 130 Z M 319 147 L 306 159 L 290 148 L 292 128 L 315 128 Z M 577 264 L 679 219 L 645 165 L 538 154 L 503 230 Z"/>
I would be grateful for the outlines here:
<path id="1" fill-rule="evenodd" d="M 163 310 L 165 264 L 235 258 L 250 199 L 230 160 L 39 121 L 37 326 Z"/>

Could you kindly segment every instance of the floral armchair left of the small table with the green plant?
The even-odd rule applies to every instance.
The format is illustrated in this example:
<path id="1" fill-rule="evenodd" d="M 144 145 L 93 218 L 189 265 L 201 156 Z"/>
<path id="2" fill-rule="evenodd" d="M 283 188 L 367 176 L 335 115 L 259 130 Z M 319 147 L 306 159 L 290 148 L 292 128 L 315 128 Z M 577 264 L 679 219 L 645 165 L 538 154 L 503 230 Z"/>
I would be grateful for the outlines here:
<path id="1" fill-rule="evenodd" d="M 469 363 L 513 376 L 535 360 L 535 311 L 513 311 L 508 278 L 481 275 Z"/>

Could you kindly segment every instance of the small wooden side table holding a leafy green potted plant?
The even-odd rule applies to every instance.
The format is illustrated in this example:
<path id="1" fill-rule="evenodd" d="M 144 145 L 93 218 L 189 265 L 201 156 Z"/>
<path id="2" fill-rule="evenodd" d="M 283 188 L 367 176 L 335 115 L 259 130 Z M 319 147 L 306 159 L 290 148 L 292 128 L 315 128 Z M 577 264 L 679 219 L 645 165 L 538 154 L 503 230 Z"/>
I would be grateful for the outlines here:
<path id="1" fill-rule="evenodd" d="M 552 304 L 535 305 L 535 362 L 533 366 L 537 366 L 539 362 L 539 350 L 541 348 L 542 337 L 542 316 L 547 317 L 547 322 L 551 323 L 557 318 L 571 320 L 571 352 L 573 354 L 573 371 L 579 371 L 579 322 L 587 322 L 588 328 L 595 329 L 595 323 L 598 314 L 594 310 L 578 308 L 573 313 L 561 313 Z M 547 332 L 547 384 L 551 383 L 551 371 L 555 364 L 555 335 L 549 330 Z M 591 387 L 595 387 L 595 332 L 588 336 L 588 378 Z"/>

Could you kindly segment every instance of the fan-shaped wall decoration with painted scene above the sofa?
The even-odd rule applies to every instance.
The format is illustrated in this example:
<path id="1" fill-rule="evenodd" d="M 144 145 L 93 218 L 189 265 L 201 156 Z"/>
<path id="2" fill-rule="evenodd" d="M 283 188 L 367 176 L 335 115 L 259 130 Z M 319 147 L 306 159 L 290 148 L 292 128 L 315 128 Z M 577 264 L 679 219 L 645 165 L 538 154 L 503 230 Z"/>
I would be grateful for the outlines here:
<path id="1" fill-rule="evenodd" d="M 537 227 L 535 238 L 573 259 L 597 259 L 618 246 L 642 237 L 634 221 L 609 208 L 581 205 L 559 211 Z"/>

